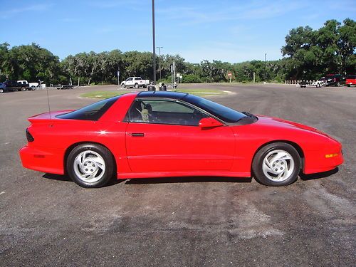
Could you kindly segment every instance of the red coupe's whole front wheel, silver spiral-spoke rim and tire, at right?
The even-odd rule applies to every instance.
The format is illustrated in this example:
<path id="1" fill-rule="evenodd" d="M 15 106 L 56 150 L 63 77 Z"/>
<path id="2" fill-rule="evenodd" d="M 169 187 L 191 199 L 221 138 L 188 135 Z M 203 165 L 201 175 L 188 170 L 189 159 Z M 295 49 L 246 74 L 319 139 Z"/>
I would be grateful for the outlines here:
<path id="1" fill-rule="evenodd" d="M 277 142 L 258 150 L 252 171 L 261 184 L 281 187 L 292 184 L 300 172 L 300 156 L 292 145 Z"/>

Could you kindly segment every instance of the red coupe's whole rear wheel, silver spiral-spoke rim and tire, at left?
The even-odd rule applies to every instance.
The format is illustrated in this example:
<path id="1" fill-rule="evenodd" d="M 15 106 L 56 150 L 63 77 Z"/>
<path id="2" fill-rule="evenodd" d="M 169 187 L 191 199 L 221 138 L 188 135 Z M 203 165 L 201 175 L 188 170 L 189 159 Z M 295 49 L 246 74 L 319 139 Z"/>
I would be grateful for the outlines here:
<path id="1" fill-rule="evenodd" d="M 80 187 L 103 187 L 114 172 L 114 158 L 103 145 L 82 144 L 70 151 L 67 172 Z"/>

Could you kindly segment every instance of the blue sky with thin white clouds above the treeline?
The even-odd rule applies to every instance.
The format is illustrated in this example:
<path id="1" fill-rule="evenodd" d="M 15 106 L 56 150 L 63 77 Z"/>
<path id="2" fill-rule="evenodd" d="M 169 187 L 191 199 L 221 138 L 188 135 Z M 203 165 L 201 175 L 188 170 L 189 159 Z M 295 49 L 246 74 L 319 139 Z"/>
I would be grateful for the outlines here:
<path id="1" fill-rule="evenodd" d="M 0 43 L 80 52 L 152 51 L 152 0 L 0 0 Z M 282 58 L 291 28 L 356 19 L 356 0 L 156 0 L 156 46 L 186 61 Z M 158 53 L 158 51 L 157 51 Z"/>

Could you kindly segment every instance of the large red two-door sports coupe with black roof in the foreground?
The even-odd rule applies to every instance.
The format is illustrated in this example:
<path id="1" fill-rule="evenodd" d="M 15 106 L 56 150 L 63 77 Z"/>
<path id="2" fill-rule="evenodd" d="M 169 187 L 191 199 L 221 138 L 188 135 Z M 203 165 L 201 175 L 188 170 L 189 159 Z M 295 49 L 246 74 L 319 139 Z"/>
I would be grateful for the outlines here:
<path id="1" fill-rule="evenodd" d="M 23 167 L 82 187 L 147 177 L 255 177 L 283 186 L 335 169 L 341 144 L 315 128 L 187 93 L 146 91 L 29 117 Z"/>

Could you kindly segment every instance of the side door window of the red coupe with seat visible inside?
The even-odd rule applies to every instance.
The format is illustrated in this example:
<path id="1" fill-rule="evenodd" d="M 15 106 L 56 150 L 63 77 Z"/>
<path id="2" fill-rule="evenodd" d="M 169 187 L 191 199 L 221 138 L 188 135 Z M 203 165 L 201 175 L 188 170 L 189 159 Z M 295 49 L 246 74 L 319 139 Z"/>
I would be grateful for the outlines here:
<path id="1" fill-rule="evenodd" d="M 135 100 L 128 117 L 130 122 L 198 126 L 202 118 L 209 116 L 174 100 Z"/>

